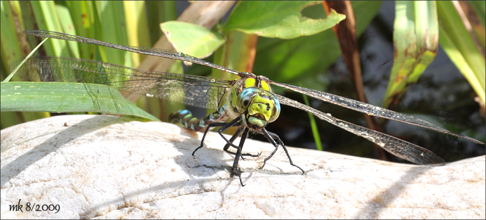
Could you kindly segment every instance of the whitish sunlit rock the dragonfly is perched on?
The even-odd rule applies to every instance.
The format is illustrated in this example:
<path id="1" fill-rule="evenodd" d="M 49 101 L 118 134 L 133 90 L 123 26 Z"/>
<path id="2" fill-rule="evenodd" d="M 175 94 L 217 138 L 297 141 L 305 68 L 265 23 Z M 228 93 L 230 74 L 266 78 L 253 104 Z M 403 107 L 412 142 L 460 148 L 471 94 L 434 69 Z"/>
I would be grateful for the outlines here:
<path id="1" fill-rule="evenodd" d="M 4 129 L 1 217 L 485 218 L 485 156 L 427 167 L 288 148 L 300 175 L 282 151 L 258 169 L 274 148 L 248 139 L 244 150 L 262 156 L 240 160 L 241 187 L 217 133 L 191 156 L 201 137 L 99 115 Z M 17 204 L 23 212 L 9 210 Z"/>

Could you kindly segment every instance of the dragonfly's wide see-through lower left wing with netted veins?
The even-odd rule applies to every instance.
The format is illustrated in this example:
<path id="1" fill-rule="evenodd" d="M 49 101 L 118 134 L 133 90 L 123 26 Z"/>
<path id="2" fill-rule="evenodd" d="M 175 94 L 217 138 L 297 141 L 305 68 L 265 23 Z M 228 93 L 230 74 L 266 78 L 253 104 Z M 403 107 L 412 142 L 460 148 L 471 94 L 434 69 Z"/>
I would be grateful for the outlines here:
<path id="1" fill-rule="evenodd" d="M 15 68 L 18 63 L 10 65 Z M 151 72 L 93 60 L 32 57 L 16 76 L 30 81 L 95 83 L 186 105 L 217 109 L 232 81 L 210 77 Z"/>

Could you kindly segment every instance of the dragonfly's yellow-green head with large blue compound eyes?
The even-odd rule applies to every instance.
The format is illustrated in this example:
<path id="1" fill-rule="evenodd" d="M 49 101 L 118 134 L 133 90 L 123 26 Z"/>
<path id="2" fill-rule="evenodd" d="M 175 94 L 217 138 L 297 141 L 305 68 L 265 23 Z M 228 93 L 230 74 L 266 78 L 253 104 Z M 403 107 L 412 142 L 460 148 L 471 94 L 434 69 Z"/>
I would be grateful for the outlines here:
<path id="1" fill-rule="evenodd" d="M 280 115 L 280 103 L 272 92 L 249 87 L 236 97 L 236 109 L 241 113 L 245 126 L 262 129 Z"/>

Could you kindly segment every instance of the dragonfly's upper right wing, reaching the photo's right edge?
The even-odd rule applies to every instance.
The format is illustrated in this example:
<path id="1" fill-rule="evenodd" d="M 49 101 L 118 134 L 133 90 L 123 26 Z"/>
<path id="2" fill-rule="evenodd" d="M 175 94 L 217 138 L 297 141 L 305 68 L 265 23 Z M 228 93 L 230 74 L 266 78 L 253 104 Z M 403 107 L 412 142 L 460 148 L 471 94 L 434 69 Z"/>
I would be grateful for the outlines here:
<path id="1" fill-rule="evenodd" d="M 331 94 L 331 93 L 327 93 L 327 92 L 322 92 L 322 91 L 317 91 L 315 89 L 309 89 L 309 88 L 304 88 L 304 87 L 300 87 L 300 86 L 293 86 L 293 85 L 279 83 L 279 82 L 275 82 L 275 81 L 271 81 L 270 83 L 272 85 L 280 86 L 280 87 L 290 89 L 290 90 L 293 90 L 293 91 L 296 91 L 296 92 L 299 92 L 299 93 L 302 93 L 302 94 L 305 94 L 305 95 L 308 95 L 308 96 L 311 96 L 311 97 L 315 97 L 316 99 L 319 99 L 319 100 L 322 100 L 322 101 L 325 101 L 325 102 L 333 103 L 333 104 L 343 106 L 343 107 L 346 107 L 346 108 L 349 108 L 349 109 L 352 109 L 352 110 L 355 110 L 355 111 L 363 112 L 363 113 L 366 113 L 368 115 L 373 115 L 373 116 L 383 117 L 383 118 L 387 118 L 387 119 L 391 119 L 391 120 L 396 120 L 396 121 L 400 121 L 400 122 L 407 123 L 407 124 L 410 124 L 410 125 L 414 125 L 414 126 L 418 126 L 418 127 L 422 127 L 422 128 L 427 128 L 427 129 L 431 129 L 431 130 L 434 130 L 434 131 L 438 131 L 438 132 L 446 133 L 446 134 L 453 135 L 453 136 L 456 136 L 456 137 L 460 137 L 460 138 L 463 138 L 463 139 L 466 139 L 466 140 L 469 140 L 469 141 L 473 141 L 475 143 L 484 144 L 483 142 L 476 140 L 474 138 L 453 133 L 453 132 L 448 131 L 446 129 L 440 128 L 439 126 L 436 126 L 436 125 L 430 123 L 429 121 L 426 121 L 426 120 L 423 120 L 423 119 L 420 119 L 420 118 L 415 118 L 411 115 L 406 115 L 406 114 L 402 114 L 402 113 L 399 113 L 399 112 L 394 112 L 394 111 L 389 110 L 389 109 L 385 109 L 385 108 L 381 108 L 381 107 L 378 107 L 378 106 L 373 106 L 373 105 L 370 105 L 370 104 L 367 104 L 367 103 L 363 103 L 363 102 L 360 102 L 360 101 L 348 99 L 348 98 L 343 97 L 343 96 L 339 96 L 339 95 L 335 95 L 335 94 Z"/>

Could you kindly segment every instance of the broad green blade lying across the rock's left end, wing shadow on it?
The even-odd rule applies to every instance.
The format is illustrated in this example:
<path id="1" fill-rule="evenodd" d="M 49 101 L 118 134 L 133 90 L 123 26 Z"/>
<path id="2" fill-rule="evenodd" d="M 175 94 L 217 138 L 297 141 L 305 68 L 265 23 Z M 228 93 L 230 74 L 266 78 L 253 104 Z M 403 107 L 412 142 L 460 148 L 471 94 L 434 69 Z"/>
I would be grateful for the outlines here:
<path id="1" fill-rule="evenodd" d="M 112 87 L 89 83 L 1 83 L 0 111 L 101 112 L 159 120 Z"/>

